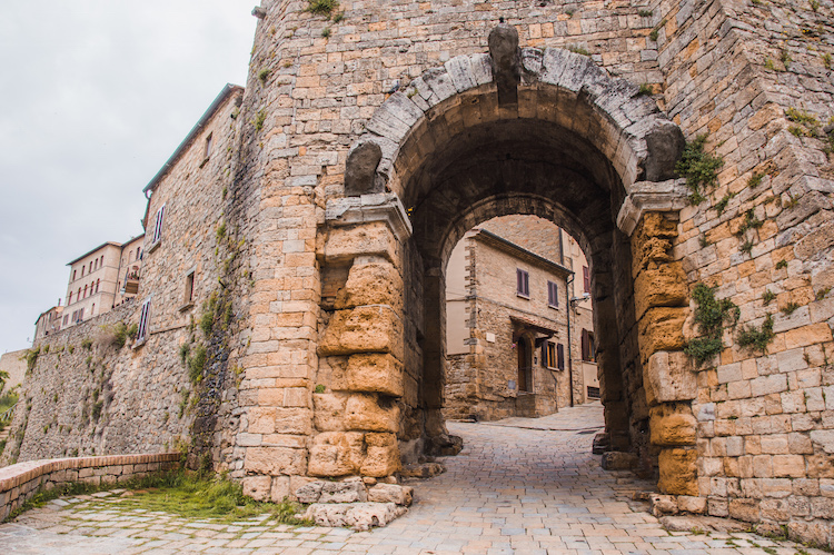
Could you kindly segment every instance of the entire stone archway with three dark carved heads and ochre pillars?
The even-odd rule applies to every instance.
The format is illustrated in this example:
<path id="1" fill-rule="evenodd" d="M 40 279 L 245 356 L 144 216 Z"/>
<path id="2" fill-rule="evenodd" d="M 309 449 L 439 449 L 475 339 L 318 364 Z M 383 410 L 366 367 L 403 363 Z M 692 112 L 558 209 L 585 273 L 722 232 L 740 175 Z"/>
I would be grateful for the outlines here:
<path id="1" fill-rule="evenodd" d="M 612 448 L 629 464 L 658 459 L 664 490 L 697 495 L 686 278 L 669 256 L 685 199 L 678 128 L 587 57 L 519 49 L 499 26 L 489 54 L 427 71 L 366 130 L 348 155 L 349 196 L 327 204 L 322 248 L 332 316 L 320 365 L 341 389 L 319 396 L 316 415 L 344 412 L 346 429 L 314 438 L 310 474 L 385 476 L 454 452 L 440 415 L 445 262 L 474 225 L 533 214 L 588 255 Z"/>

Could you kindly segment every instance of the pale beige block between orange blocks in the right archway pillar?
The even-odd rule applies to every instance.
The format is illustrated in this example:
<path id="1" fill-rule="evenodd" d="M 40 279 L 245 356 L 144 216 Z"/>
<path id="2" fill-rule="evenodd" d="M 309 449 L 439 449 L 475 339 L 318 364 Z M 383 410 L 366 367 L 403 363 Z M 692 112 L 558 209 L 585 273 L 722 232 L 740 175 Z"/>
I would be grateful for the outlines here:
<path id="1" fill-rule="evenodd" d="M 697 396 L 697 375 L 684 351 L 656 351 L 643 368 L 643 385 L 649 405 L 691 400 Z"/>

